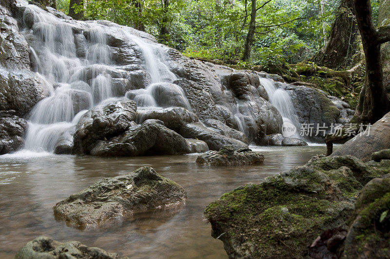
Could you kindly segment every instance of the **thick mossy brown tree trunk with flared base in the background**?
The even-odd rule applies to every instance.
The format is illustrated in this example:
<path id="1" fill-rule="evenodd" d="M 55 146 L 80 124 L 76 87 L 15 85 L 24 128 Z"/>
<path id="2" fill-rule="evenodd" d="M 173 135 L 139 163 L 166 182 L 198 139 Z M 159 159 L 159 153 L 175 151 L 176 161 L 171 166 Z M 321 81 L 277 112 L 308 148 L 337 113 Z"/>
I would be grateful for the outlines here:
<path id="1" fill-rule="evenodd" d="M 359 30 L 353 14 L 353 0 L 342 0 L 328 41 L 312 61 L 334 70 L 341 70 L 358 63 L 360 60 L 353 60 L 359 48 L 356 41 L 358 35 Z"/>

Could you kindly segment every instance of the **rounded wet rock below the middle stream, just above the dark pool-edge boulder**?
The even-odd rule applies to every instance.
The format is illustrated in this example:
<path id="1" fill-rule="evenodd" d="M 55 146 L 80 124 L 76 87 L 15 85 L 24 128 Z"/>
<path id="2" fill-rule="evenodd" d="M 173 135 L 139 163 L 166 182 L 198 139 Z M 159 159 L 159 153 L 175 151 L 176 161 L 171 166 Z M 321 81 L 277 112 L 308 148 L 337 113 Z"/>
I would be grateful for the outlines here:
<path id="1" fill-rule="evenodd" d="M 164 125 L 176 132 L 187 123 L 197 122 L 198 117 L 183 107 L 170 107 L 165 109 L 140 110 L 137 113 L 137 123 L 156 119 L 164 121 Z"/>

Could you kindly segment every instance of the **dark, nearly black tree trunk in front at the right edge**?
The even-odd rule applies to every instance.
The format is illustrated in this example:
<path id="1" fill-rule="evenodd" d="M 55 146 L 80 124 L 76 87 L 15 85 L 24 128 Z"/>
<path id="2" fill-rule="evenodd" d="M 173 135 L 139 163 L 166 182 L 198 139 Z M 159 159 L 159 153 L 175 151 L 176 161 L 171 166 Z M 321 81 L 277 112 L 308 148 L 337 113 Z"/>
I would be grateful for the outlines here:
<path id="1" fill-rule="evenodd" d="M 360 93 L 355 120 L 373 123 L 390 111 L 390 94 L 383 82 L 381 57 L 381 44 L 390 41 L 390 26 L 375 29 L 370 0 L 354 0 L 354 7 L 366 57 L 367 77 Z"/>

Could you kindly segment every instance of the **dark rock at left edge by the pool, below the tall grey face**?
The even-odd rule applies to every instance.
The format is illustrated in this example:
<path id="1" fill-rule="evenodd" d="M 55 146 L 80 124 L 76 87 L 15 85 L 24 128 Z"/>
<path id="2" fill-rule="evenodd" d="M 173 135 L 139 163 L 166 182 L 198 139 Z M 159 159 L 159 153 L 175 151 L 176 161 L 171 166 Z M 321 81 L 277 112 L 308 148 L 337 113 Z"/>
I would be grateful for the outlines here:
<path id="1" fill-rule="evenodd" d="M 0 155 L 18 150 L 24 144 L 27 121 L 15 116 L 15 111 L 0 111 Z"/>

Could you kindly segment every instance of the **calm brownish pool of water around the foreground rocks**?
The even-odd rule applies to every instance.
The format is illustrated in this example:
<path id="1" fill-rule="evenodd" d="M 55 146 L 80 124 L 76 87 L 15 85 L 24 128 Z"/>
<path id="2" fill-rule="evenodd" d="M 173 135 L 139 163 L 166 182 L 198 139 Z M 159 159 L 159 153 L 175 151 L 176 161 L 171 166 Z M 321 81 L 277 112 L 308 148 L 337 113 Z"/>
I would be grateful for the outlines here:
<path id="1" fill-rule="evenodd" d="M 197 165 L 196 155 L 97 158 L 22 151 L 0 156 L 0 258 L 13 258 L 26 242 L 42 235 L 132 258 L 227 258 L 223 243 L 211 237 L 204 208 L 227 191 L 260 183 L 326 152 L 325 146 L 253 149 L 264 154 L 263 165 Z M 54 219 L 52 207 L 60 200 L 144 165 L 183 186 L 186 204 L 83 230 Z"/>

